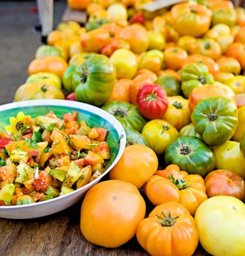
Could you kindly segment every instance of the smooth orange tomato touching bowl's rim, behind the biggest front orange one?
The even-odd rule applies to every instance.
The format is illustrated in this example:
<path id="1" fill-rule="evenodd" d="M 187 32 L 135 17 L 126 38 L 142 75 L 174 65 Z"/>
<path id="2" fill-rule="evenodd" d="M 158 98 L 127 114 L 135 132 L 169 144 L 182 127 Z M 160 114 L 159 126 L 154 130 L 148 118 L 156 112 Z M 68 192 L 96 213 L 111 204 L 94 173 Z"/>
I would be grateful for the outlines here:
<path id="1" fill-rule="evenodd" d="M 110 179 L 127 181 L 140 188 L 156 172 L 157 166 L 157 155 L 150 147 L 130 145 L 125 148 L 109 176 Z"/>

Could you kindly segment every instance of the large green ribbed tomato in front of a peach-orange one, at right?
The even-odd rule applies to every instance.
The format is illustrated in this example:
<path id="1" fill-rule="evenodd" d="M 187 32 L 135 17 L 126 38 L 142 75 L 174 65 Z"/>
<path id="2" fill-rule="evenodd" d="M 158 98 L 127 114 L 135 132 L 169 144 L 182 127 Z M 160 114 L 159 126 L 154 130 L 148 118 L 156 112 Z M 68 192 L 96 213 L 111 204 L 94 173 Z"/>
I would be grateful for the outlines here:
<path id="1" fill-rule="evenodd" d="M 195 106 L 191 121 L 205 143 L 218 146 L 234 135 L 238 123 L 237 108 L 225 97 L 203 99 Z"/>

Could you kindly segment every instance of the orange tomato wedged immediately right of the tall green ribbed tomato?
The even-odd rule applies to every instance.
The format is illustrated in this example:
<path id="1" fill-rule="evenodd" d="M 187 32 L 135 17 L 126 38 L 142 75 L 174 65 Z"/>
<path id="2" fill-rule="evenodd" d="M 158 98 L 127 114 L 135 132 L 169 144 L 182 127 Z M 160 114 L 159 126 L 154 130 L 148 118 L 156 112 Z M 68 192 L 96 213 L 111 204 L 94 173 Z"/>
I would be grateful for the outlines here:
<path id="1" fill-rule="evenodd" d="M 108 101 L 120 100 L 129 102 L 131 82 L 132 80 L 126 78 L 118 80 Z"/>

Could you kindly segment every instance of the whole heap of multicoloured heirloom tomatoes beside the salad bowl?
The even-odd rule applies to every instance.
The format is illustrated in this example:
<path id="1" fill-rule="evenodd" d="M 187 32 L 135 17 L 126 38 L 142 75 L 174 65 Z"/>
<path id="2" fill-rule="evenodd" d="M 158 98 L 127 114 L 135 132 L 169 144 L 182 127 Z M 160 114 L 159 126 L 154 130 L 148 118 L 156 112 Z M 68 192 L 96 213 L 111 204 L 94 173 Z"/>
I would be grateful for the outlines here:
<path id="1" fill-rule="evenodd" d="M 124 127 L 111 180 L 82 204 L 87 240 L 117 247 L 136 234 L 152 255 L 191 255 L 199 241 L 244 255 L 245 10 L 198 0 L 148 12 L 148 2 L 69 0 L 85 27 L 48 35 L 15 100 L 64 99 L 63 86 Z M 146 219 L 137 188 L 156 206 Z"/>

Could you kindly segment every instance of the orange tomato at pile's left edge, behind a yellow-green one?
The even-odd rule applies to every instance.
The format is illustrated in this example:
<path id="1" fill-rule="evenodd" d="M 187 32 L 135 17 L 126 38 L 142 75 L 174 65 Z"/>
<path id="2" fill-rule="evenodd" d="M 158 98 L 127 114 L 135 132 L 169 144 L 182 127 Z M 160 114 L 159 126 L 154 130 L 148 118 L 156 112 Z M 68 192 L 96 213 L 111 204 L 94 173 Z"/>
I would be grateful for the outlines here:
<path id="1" fill-rule="evenodd" d="M 67 62 L 58 56 L 45 56 L 41 59 L 34 59 L 28 66 L 28 74 L 33 75 L 38 72 L 51 72 L 62 78 L 67 68 Z"/>

